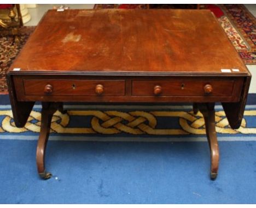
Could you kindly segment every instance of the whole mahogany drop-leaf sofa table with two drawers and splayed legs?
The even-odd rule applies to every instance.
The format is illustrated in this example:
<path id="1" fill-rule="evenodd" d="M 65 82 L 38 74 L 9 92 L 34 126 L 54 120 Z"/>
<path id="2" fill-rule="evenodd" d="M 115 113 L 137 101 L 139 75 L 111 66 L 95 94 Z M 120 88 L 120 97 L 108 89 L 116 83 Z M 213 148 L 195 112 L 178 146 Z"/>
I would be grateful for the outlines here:
<path id="1" fill-rule="evenodd" d="M 215 179 L 214 103 L 240 127 L 251 74 L 209 10 L 49 10 L 7 79 L 17 127 L 42 101 L 36 158 L 44 179 L 51 118 L 65 113 L 65 101 L 193 103 L 205 119 Z"/>

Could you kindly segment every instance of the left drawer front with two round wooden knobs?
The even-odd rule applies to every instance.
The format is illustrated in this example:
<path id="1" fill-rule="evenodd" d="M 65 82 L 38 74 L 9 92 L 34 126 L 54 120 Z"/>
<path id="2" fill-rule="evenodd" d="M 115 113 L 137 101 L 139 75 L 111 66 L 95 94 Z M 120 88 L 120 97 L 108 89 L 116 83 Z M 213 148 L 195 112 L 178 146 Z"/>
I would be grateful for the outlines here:
<path id="1" fill-rule="evenodd" d="M 125 95 L 124 80 L 23 79 L 25 95 Z"/>

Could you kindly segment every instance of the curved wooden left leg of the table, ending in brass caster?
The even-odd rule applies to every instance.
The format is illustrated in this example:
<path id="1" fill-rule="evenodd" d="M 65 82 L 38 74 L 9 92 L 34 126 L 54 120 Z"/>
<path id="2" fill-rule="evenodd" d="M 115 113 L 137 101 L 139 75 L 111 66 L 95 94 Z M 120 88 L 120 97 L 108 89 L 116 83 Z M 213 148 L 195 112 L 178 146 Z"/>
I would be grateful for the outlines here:
<path id="1" fill-rule="evenodd" d="M 37 170 L 38 174 L 42 179 L 51 178 L 51 173 L 47 173 L 44 167 L 44 157 L 46 144 L 49 138 L 50 127 L 51 127 L 51 118 L 53 114 L 60 109 L 63 111 L 62 103 L 58 102 L 42 102 L 42 112 L 41 112 L 41 129 L 39 134 L 39 139 L 37 143 Z"/>

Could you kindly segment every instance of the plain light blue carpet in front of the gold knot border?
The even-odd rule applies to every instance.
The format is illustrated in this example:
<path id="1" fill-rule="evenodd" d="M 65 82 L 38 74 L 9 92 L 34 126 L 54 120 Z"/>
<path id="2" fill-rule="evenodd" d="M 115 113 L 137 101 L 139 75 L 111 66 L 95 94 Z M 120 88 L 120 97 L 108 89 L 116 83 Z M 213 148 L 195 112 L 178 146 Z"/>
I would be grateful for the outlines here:
<path id="1" fill-rule="evenodd" d="M 49 141 L 54 176 L 43 181 L 35 140 L 0 139 L 0 203 L 256 203 L 256 142 L 219 146 L 219 175 L 211 181 L 206 142 Z"/>

